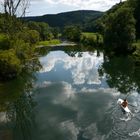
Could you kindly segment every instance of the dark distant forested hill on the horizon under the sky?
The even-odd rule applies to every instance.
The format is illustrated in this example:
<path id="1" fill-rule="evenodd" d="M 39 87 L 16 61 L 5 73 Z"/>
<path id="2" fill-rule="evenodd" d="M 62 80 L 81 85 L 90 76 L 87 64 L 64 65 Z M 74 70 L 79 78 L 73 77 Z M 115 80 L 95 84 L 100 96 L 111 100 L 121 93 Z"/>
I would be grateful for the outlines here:
<path id="1" fill-rule="evenodd" d="M 51 27 L 63 28 L 66 25 L 80 25 L 86 27 L 87 23 L 95 21 L 103 15 L 103 12 L 92 10 L 79 10 L 59 14 L 25 17 L 27 21 L 47 22 Z"/>

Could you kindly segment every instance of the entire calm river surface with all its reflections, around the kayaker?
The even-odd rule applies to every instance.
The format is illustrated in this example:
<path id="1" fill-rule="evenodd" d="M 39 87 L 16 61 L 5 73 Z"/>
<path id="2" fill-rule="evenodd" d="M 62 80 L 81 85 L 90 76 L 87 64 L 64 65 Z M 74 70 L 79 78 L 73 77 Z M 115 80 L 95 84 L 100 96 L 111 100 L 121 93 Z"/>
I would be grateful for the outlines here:
<path id="1" fill-rule="evenodd" d="M 140 67 L 131 57 L 54 49 L 0 84 L 0 140 L 139 140 Z M 127 97 L 132 114 L 117 105 Z"/>

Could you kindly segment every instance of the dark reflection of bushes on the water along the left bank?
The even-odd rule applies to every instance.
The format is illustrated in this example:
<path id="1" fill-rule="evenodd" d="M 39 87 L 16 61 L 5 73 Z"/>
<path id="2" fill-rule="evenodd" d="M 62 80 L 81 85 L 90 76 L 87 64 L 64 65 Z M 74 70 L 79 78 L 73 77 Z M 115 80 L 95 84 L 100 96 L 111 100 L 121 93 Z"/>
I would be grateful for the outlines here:
<path id="1" fill-rule="evenodd" d="M 24 73 L 17 79 L 0 83 L 0 139 L 32 140 L 35 128 L 32 97 L 35 77 Z"/>

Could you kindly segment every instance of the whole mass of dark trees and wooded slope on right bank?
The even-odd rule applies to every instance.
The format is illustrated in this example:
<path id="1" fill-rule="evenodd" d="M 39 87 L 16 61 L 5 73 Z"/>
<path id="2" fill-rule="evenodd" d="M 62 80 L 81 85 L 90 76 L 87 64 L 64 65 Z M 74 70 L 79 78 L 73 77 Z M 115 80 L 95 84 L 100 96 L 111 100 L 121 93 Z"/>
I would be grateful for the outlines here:
<path id="1" fill-rule="evenodd" d="M 139 0 L 127 0 L 113 6 L 96 21 L 103 34 L 105 49 L 115 53 L 132 53 L 135 39 L 139 39 Z"/>

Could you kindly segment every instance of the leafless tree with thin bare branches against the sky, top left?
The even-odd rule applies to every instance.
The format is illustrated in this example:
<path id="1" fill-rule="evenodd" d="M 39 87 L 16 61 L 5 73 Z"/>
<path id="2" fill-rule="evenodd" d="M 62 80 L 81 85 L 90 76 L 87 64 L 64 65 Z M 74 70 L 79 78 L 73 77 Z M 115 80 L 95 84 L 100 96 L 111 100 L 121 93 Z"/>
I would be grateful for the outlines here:
<path id="1" fill-rule="evenodd" d="M 3 0 L 2 2 L 4 13 L 8 13 L 10 16 L 25 16 L 28 5 L 29 0 Z"/>

